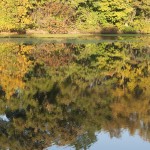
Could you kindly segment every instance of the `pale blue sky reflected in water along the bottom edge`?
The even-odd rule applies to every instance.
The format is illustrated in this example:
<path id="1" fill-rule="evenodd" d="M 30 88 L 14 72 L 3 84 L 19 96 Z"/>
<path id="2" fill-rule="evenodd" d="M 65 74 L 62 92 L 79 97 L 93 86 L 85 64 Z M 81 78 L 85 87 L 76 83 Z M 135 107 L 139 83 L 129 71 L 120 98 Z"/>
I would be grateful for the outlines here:
<path id="1" fill-rule="evenodd" d="M 131 136 L 127 130 L 122 132 L 120 138 L 110 138 L 109 133 L 102 131 L 97 133 L 97 142 L 91 145 L 89 150 L 149 150 L 150 143 L 144 141 L 137 134 Z M 73 147 L 52 146 L 45 150 L 74 150 Z"/>

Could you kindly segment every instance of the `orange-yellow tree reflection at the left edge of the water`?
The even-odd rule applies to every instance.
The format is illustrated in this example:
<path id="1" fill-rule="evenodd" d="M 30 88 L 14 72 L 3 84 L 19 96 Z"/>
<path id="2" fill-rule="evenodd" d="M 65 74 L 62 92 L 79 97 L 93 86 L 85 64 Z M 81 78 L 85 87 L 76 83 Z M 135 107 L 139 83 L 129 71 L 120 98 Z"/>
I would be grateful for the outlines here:
<path id="1" fill-rule="evenodd" d="M 25 86 L 23 77 L 31 61 L 28 61 L 24 53 L 29 52 L 31 47 L 27 46 L 26 49 L 15 44 L 1 44 L 0 47 L 0 85 L 9 99 L 17 89 L 21 90 Z"/>

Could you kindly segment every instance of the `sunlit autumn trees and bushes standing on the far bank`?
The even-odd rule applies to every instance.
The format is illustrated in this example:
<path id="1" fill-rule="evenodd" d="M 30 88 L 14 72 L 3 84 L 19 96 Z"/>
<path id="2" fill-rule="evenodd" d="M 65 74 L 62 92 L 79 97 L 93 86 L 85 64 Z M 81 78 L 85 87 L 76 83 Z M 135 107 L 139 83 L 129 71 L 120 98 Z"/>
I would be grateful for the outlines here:
<path id="1" fill-rule="evenodd" d="M 1 0 L 0 32 L 150 33 L 149 0 Z"/>

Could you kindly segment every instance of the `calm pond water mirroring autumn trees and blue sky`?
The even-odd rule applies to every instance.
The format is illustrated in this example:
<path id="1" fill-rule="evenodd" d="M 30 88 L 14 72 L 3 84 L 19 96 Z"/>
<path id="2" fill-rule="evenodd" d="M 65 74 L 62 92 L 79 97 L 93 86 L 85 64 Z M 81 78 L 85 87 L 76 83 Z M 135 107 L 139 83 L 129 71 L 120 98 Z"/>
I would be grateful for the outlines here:
<path id="1" fill-rule="evenodd" d="M 149 150 L 150 38 L 0 39 L 0 150 Z"/>

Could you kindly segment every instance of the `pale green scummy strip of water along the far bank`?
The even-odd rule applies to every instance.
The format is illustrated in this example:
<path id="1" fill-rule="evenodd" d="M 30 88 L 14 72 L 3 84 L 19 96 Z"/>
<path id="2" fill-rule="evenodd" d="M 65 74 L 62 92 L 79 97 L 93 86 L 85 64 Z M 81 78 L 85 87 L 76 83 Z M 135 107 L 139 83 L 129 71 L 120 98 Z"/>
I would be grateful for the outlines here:
<path id="1" fill-rule="evenodd" d="M 72 44 L 88 44 L 88 43 L 103 43 L 103 42 L 136 42 L 141 38 L 149 39 L 149 35 L 142 34 L 94 34 L 94 35 L 81 35 L 80 37 L 22 37 L 22 38 L 0 38 L 0 43 L 15 42 L 24 44 L 42 44 L 42 43 L 72 43 Z"/>

